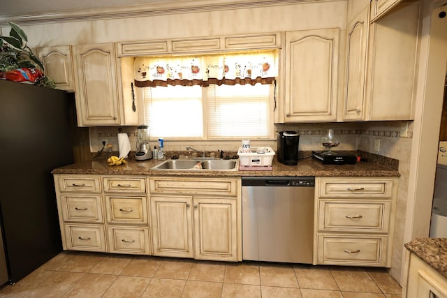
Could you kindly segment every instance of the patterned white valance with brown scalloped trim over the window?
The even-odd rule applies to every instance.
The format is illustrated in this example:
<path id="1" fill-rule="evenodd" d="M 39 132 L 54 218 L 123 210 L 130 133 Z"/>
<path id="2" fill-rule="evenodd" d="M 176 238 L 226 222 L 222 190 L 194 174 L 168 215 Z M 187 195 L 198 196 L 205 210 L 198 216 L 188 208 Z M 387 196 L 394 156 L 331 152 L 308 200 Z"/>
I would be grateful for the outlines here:
<path id="1" fill-rule="evenodd" d="M 274 50 L 200 56 L 138 57 L 135 86 L 207 87 L 210 84 L 271 84 L 277 76 Z"/>

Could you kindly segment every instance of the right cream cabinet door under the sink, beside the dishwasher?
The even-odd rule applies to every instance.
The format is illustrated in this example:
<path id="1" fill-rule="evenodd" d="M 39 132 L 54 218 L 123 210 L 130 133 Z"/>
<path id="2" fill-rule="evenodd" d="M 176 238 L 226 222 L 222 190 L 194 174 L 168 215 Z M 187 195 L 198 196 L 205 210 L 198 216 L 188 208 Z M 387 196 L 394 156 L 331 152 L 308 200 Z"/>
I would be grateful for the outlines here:
<path id="1" fill-rule="evenodd" d="M 195 258 L 237 261 L 236 200 L 194 198 Z"/>

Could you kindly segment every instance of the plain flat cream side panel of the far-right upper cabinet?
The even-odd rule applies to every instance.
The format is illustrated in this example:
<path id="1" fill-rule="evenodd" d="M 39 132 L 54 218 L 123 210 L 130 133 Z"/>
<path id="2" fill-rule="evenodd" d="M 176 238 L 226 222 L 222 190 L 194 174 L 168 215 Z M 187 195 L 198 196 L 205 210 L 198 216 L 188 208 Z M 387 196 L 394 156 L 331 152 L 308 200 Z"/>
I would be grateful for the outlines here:
<path id="1" fill-rule="evenodd" d="M 369 28 L 366 120 L 414 118 L 420 3 L 400 4 Z"/>

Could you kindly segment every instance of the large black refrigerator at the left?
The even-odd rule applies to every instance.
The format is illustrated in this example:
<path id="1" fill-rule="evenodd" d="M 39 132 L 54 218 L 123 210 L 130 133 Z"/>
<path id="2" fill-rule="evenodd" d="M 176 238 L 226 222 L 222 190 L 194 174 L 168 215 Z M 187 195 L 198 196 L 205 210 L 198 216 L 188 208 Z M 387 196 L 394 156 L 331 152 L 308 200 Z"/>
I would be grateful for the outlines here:
<path id="1" fill-rule="evenodd" d="M 0 284 L 62 251 L 51 171 L 73 163 L 72 101 L 66 91 L 0 80 L 0 232 L 8 269 Z"/>

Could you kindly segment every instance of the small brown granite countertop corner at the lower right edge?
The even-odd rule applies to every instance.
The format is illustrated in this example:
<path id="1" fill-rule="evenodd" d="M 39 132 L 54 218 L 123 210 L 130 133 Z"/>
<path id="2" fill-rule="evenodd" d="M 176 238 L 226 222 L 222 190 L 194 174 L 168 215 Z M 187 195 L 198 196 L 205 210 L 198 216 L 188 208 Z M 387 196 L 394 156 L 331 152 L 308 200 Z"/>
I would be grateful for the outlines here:
<path id="1" fill-rule="evenodd" d="M 418 238 L 405 247 L 447 278 L 447 238 Z"/>

